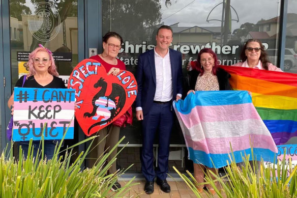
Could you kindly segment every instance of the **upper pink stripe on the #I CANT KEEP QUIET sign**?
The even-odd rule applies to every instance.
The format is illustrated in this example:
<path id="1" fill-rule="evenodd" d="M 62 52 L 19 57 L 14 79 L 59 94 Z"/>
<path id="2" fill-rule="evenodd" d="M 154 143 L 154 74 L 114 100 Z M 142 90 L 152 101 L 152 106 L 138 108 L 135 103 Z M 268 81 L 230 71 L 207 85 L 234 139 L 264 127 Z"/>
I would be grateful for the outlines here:
<path id="1" fill-rule="evenodd" d="M 19 102 L 14 102 L 14 110 L 28 110 L 29 105 L 31 105 L 31 109 L 35 108 L 37 106 L 37 109 L 39 108 L 39 106 L 43 105 L 43 106 L 48 106 L 51 105 L 51 107 L 48 108 L 48 110 L 53 110 L 53 107 L 55 105 L 61 105 L 62 109 L 64 110 L 74 110 L 74 102 L 69 103 L 69 102 L 48 102 L 48 103 L 44 103 L 42 101 L 38 101 L 38 102 L 33 102 L 33 101 L 29 101 L 26 103 L 19 103 Z M 45 110 L 45 107 L 42 110 Z"/>

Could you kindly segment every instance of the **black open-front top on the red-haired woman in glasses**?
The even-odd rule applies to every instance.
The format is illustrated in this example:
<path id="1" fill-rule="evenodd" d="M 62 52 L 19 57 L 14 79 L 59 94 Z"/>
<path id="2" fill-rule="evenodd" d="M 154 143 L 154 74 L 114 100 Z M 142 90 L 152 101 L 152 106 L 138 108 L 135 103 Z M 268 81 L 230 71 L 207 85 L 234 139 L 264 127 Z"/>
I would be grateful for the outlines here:
<path id="1" fill-rule="evenodd" d="M 200 74 L 199 71 L 197 70 L 192 70 L 189 72 L 190 74 L 190 89 L 189 90 L 195 90 L 195 85 L 196 85 L 196 81 L 197 81 L 197 77 Z M 231 75 L 226 72 L 225 70 L 219 68 L 217 71 L 217 78 L 219 81 L 219 88 L 220 90 L 232 90 L 230 83 L 229 83 L 229 78 L 231 77 Z"/>

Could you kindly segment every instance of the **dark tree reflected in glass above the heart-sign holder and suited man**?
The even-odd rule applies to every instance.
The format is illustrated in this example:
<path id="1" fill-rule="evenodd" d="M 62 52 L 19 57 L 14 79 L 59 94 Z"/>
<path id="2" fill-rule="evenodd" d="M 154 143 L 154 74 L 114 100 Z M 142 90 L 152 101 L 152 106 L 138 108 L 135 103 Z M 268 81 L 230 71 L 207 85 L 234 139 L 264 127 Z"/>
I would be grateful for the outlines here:
<path id="1" fill-rule="evenodd" d="M 103 1 L 103 30 L 121 34 L 125 40 L 141 42 L 151 35 L 154 26 L 161 20 L 161 5 L 158 0 Z M 145 8 L 145 9 L 144 9 Z M 111 10 L 110 10 L 111 9 Z M 111 25 L 111 26 L 110 26 Z"/>

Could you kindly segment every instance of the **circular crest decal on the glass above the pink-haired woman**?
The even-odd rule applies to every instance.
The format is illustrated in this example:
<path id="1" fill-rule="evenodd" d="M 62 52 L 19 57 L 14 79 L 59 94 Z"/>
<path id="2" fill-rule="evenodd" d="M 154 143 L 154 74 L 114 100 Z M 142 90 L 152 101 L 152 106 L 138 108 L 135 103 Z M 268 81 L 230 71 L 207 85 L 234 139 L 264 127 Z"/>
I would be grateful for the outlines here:
<path id="1" fill-rule="evenodd" d="M 28 18 L 29 31 L 39 41 L 50 41 L 60 31 L 60 15 L 49 3 L 38 3 L 36 8 L 36 14 Z"/>

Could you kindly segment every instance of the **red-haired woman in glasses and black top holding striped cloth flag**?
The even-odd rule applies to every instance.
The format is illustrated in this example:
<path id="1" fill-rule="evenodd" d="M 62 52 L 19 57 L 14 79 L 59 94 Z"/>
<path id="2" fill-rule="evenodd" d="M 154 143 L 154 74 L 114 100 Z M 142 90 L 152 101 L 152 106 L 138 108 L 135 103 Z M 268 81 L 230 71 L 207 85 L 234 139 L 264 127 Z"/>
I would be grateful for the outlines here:
<path id="1" fill-rule="evenodd" d="M 198 53 L 196 62 L 191 62 L 194 69 L 189 72 L 190 74 L 190 91 L 187 94 L 195 91 L 218 91 L 218 90 L 231 90 L 229 84 L 230 74 L 225 70 L 218 67 L 218 58 L 216 53 L 210 48 L 201 49 Z M 194 91 L 195 90 L 195 91 Z M 197 186 L 198 192 L 203 192 L 204 184 L 200 183 L 204 181 L 204 172 L 209 174 L 213 179 L 215 177 L 209 173 L 217 173 L 218 169 L 204 166 L 199 164 L 199 159 L 193 161 L 194 163 L 194 177 L 199 184 Z M 210 184 L 206 184 L 205 187 L 211 194 L 215 194 L 215 190 Z"/>

